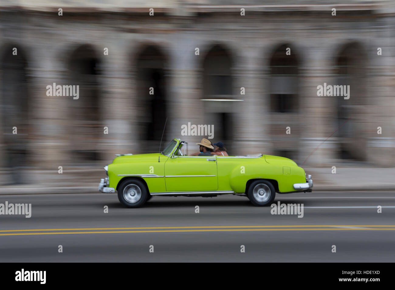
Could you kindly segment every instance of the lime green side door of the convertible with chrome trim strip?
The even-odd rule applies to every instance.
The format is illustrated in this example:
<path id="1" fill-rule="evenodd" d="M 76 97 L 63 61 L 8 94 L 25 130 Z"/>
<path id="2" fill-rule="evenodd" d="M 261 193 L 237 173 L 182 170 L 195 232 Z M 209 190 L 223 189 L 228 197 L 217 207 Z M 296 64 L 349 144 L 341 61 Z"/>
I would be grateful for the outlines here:
<path id="1" fill-rule="evenodd" d="M 174 156 L 165 163 L 167 192 L 218 189 L 216 156 Z"/>

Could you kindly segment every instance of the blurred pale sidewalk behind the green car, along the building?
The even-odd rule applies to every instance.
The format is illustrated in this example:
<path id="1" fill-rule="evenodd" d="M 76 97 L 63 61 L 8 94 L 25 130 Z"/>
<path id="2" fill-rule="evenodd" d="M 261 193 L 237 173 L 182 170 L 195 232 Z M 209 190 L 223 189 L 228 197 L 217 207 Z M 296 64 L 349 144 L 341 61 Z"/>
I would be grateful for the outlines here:
<path id="1" fill-rule="evenodd" d="M 312 175 L 314 191 L 394 191 L 395 168 L 338 167 L 336 174 L 331 168 L 304 168 Z M 54 174 L 36 171 L 32 175 L 36 183 L 4 185 L 0 195 L 51 194 L 51 193 L 99 193 L 98 184 L 105 178 L 103 170 L 75 170 L 74 174 Z M 40 178 L 39 178 L 40 177 Z"/>

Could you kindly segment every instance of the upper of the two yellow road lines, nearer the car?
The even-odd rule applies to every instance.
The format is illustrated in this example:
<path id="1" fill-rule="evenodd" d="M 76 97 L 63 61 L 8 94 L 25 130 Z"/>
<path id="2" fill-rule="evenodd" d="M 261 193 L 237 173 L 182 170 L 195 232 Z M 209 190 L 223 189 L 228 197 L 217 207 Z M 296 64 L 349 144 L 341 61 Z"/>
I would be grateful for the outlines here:
<path id="1" fill-rule="evenodd" d="M 0 232 L 39 232 L 39 231 L 61 231 L 61 230 L 160 230 L 172 228 L 322 228 L 337 226 L 353 226 L 353 227 L 383 227 L 391 228 L 395 225 L 292 225 L 292 226 L 163 226 L 163 227 L 142 227 L 142 228 L 48 228 L 48 229 L 32 229 L 32 230 L 0 230 Z"/>

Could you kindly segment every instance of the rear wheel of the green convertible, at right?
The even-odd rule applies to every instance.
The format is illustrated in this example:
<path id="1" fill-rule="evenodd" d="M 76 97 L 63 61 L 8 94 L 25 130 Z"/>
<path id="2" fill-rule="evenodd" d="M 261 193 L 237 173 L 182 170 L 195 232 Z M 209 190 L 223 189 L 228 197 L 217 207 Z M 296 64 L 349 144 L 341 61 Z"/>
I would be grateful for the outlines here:
<path id="1" fill-rule="evenodd" d="M 276 197 L 273 184 L 266 180 L 256 180 L 248 187 L 248 198 L 254 206 L 267 206 Z"/>

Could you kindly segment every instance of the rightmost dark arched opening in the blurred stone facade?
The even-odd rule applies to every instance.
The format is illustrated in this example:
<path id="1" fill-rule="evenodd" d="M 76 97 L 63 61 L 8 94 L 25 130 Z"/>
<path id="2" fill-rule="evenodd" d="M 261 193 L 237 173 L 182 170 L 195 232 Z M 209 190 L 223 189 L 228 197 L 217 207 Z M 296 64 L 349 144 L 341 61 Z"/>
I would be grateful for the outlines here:
<path id="1" fill-rule="evenodd" d="M 361 105 L 365 105 L 364 62 L 365 54 L 359 43 L 348 43 L 341 47 L 335 66 L 335 84 L 348 88 L 348 96 L 336 96 L 336 127 L 342 126 L 337 132 L 338 157 L 350 161 L 364 161 L 365 138 L 363 138 L 363 114 Z M 346 86 L 346 87 L 344 87 Z M 350 119 L 351 118 L 351 119 Z M 350 120 L 349 120 L 350 119 Z"/>

